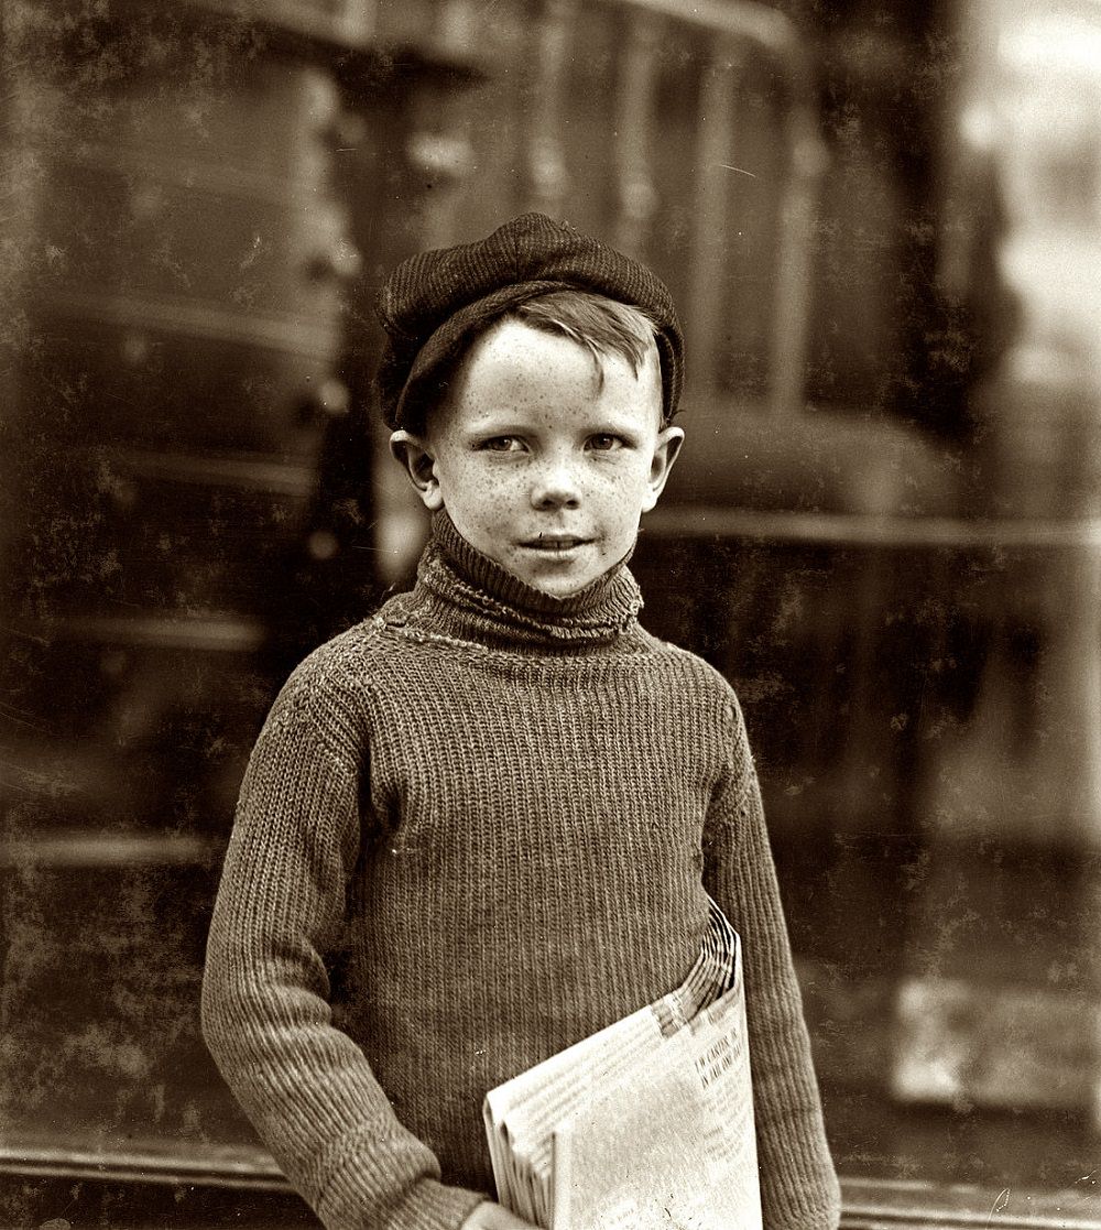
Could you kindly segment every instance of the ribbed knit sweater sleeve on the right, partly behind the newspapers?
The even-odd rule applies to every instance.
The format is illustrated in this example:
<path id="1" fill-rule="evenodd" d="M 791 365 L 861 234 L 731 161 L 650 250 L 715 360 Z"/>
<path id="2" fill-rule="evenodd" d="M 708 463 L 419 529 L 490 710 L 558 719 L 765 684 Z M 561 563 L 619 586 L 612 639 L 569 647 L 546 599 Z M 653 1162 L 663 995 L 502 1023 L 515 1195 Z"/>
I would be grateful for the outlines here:
<path id="1" fill-rule="evenodd" d="M 731 697 L 727 774 L 704 834 L 705 884 L 742 936 L 765 1230 L 834 1230 L 840 1192 L 745 727 Z"/>

